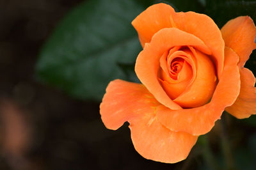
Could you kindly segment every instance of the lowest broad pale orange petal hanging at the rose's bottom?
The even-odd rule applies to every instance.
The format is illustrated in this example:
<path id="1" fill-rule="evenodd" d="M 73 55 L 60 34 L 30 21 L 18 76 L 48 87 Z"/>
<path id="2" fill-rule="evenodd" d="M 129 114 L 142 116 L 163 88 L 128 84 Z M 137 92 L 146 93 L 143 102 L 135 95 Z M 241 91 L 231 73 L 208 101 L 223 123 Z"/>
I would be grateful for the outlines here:
<path id="1" fill-rule="evenodd" d="M 188 157 L 198 136 L 172 132 L 157 121 L 155 109 L 148 108 L 143 116 L 130 121 L 134 148 L 143 157 L 165 163 L 176 163 Z"/>

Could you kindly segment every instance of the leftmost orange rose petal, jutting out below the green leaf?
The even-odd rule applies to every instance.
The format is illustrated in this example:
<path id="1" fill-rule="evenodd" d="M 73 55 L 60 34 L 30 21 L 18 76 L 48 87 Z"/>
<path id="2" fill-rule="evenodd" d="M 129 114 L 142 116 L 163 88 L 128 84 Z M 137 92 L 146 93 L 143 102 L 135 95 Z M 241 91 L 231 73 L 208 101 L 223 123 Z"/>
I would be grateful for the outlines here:
<path id="1" fill-rule="evenodd" d="M 100 104 L 101 119 L 107 128 L 116 130 L 125 121 L 143 114 L 144 108 L 156 105 L 159 103 L 142 84 L 116 79 L 109 82 Z"/>

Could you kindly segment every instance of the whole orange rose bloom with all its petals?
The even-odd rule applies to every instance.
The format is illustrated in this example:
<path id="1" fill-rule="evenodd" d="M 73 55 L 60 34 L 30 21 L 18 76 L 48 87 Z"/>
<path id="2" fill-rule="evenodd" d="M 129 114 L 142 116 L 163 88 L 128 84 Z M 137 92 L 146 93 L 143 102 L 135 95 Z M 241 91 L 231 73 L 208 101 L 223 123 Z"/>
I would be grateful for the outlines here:
<path id="1" fill-rule="evenodd" d="M 142 84 L 115 80 L 100 104 L 104 125 L 130 123 L 134 148 L 145 158 L 175 163 L 188 157 L 225 110 L 256 113 L 253 73 L 244 68 L 256 48 L 250 17 L 221 28 L 207 15 L 154 4 L 132 21 L 143 50 L 135 72 Z"/>

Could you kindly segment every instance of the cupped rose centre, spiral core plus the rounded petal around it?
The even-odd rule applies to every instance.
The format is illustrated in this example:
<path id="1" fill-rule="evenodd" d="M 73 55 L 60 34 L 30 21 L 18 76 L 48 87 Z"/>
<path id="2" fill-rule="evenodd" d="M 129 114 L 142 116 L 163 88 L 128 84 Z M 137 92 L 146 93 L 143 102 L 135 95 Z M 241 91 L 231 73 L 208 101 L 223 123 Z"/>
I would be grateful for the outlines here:
<path id="1" fill-rule="evenodd" d="M 159 81 L 174 102 L 184 108 L 209 102 L 217 82 L 209 56 L 193 47 L 179 47 L 163 54 L 160 66 Z"/>

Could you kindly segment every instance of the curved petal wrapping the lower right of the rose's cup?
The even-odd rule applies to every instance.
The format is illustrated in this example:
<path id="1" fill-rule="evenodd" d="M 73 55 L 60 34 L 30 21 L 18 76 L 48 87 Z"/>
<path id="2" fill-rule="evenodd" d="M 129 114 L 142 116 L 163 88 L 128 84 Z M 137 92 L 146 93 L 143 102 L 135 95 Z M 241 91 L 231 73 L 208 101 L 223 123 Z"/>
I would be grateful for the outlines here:
<path id="1" fill-rule="evenodd" d="M 211 102 L 193 109 L 172 111 L 164 106 L 157 107 L 158 120 L 175 132 L 202 135 L 211 130 L 220 119 L 225 107 L 232 105 L 240 89 L 238 56 L 232 49 L 225 49 L 225 67 Z"/>

